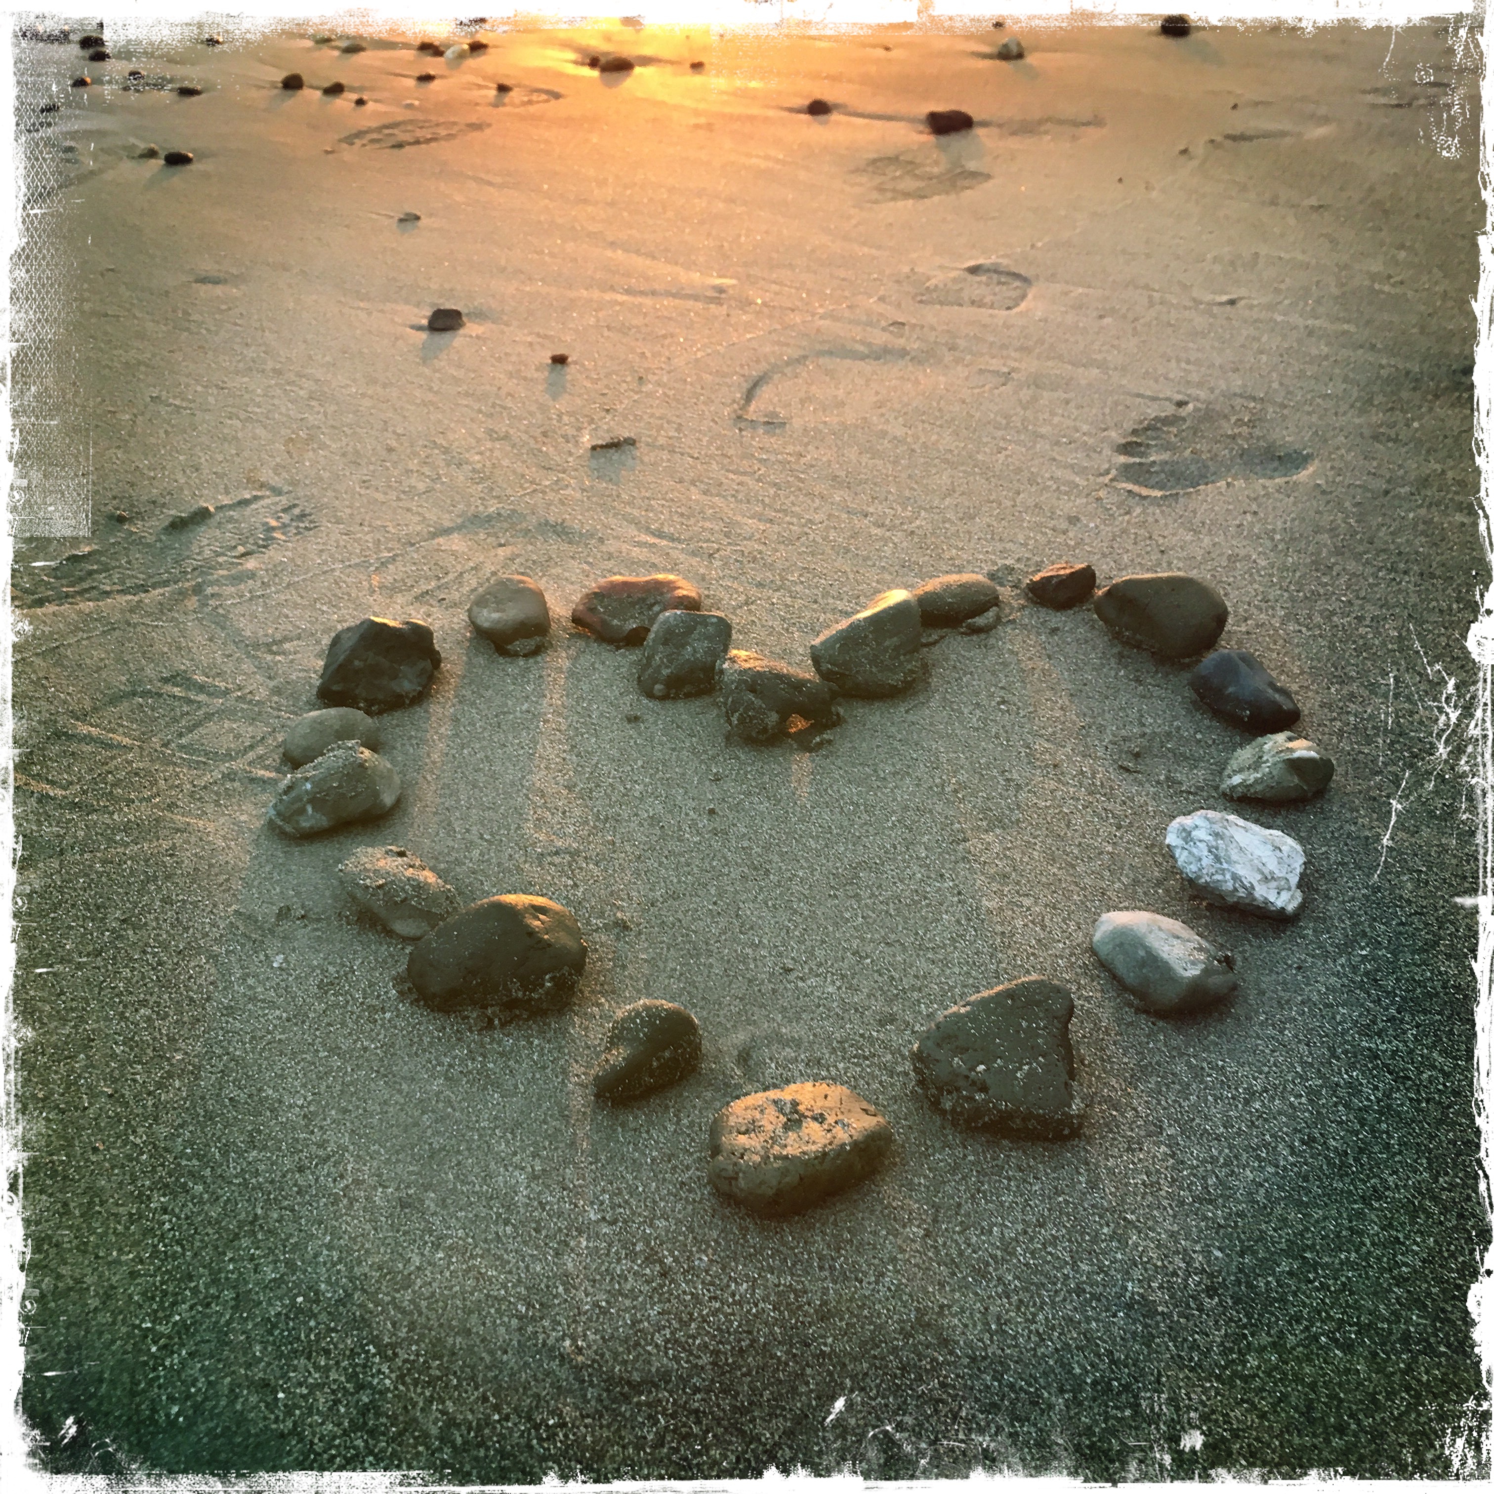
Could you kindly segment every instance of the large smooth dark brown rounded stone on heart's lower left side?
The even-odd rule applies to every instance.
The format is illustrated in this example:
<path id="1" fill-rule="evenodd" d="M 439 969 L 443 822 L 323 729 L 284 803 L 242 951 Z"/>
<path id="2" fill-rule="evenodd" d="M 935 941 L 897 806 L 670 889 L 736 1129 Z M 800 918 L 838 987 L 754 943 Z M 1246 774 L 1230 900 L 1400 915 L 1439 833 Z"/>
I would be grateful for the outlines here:
<path id="1" fill-rule="evenodd" d="M 584 968 L 586 941 L 571 913 L 515 892 L 439 923 L 409 952 L 406 973 L 438 1011 L 547 1011 L 571 999 Z"/>

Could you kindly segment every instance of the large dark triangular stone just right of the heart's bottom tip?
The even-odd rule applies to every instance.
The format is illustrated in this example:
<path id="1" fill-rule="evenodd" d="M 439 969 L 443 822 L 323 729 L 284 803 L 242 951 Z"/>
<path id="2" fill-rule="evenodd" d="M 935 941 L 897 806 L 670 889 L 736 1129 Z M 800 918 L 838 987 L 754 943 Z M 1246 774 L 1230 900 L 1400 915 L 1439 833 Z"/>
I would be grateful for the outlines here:
<path id="1" fill-rule="evenodd" d="M 1074 996 L 1032 976 L 950 1007 L 913 1049 L 913 1073 L 952 1120 L 1011 1135 L 1079 1126 L 1068 1023 Z"/>

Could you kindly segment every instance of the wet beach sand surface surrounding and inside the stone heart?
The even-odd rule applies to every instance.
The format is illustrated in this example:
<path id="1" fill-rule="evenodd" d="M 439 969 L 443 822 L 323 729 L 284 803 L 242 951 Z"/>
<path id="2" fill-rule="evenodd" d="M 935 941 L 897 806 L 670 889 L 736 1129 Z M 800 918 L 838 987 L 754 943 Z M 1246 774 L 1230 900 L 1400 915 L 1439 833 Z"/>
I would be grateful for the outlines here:
<path id="1" fill-rule="evenodd" d="M 1449 711 L 1485 565 L 1446 31 L 1076 27 L 1019 64 L 989 30 L 484 33 L 460 63 L 196 34 L 111 37 L 90 90 L 18 48 L 81 421 L 28 439 L 91 463 L 87 541 L 21 541 L 13 577 L 49 1466 L 1458 1472 L 1487 1227 Z M 611 51 L 641 66 L 587 67 Z M 1058 560 L 1216 584 L 1328 793 L 1224 801 L 1246 738 L 1088 608 L 1025 605 Z M 807 666 L 874 593 L 970 569 L 1001 626 L 813 754 L 645 699 L 565 622 L 677 571 Z M 502 572 L 556 614 L 533 659 L 466 623 Z M 382 719 L 405 795 L 282 840 L 281 737 L 369 613 L 444 654 Z M 1303 843 L 1298 922 L 1188 898 L 1162 832 L 1198 808 Z M 408 1001 L 408 946 L 335 880 L 390 843 L 569 907 L 577 1004 Z M 1239 996 L 1132 1010 L 1088 947 L 1112 908 L 1233 950 Z M 1067 1143 L 913 1089 L 923 1026 L 1028 974 L 1076 992 Z M 641 998 L 699 1017 L 704 1065 L 595 1107 Z M 765 1224 L 708 1188 L 707 1126 L 805 1079 L 896 1155 Z"/>

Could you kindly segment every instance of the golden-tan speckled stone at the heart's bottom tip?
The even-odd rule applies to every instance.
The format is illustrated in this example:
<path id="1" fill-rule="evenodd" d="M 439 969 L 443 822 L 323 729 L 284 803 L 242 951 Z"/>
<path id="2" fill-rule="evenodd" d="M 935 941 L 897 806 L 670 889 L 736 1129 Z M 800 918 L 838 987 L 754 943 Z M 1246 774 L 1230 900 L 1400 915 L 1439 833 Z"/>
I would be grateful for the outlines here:
<path id="1" fill-rule="evenodd" d="M 754 1213 L 799 1213 L 870 1177 L 892 1126 L 841 1085 L 807 1083 L 734 1100 L 711 1120 L 710 1179 Z"/>

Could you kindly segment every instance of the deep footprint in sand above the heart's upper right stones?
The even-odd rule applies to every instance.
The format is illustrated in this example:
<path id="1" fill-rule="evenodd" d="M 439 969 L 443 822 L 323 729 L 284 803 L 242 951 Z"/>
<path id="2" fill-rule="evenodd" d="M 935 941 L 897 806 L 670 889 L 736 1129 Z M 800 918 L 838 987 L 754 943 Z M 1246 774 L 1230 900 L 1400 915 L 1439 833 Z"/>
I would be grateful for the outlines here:
<path id="1" fill-rule="evenodd" d="M 1116 447 L 1126 460 L 1110 481 L 1149 496 L 1189 493 L 1228 478 L 1286 478 L 1313 454 L 1274 441 L 1259 429 L 1256 400 L 1233 406 L 1188 405 L 1150 415 Z"/>

